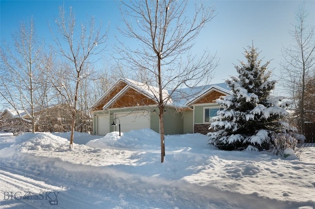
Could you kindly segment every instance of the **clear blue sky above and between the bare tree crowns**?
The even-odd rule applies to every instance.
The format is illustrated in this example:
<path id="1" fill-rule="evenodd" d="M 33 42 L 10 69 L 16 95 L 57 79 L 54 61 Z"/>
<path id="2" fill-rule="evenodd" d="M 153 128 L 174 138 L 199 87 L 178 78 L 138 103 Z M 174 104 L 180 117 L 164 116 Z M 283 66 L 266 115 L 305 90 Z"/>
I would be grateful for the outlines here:
<path id="1" fill-rule="evenodd" d="M 208 2 L 209 3 L 209 2 Z M 220 66 L 216 69 L 212 83 L 223 82 L 229 76 L 236 75 L 233 64 L 244 60 L 244 49 L 252 45 L 261 51 L 263 62 L 272 60 L 269 69 L 279 75 L 281 49 L 292 44 L 288 30 L 295 24 L 295 12 L 302 1 L 251 0 L 251 1 L 211 1 L 216 5 L 218 15 L 206 25 L 196 38 L 194 53 L 208 49 L 217 52 Z M 92 15 L 96 23 L 104 25 L 110 22 L 109 44 L 115 43 L 118 34 L 116 25 L 120 23 L 118 2 L 112 0 L 0 0 L 0 38 L 10 41 L 11 34 L 19 28 L 21 21 L 33 17 L 37 35 L 44 37 L 46 43 L 51 40 L 48 23 L 54 24 L 58 17 L 59 6 L 66 9 L 72 6 L 77 21 L 87 21 Z M 307 23 L 315 25 L 315 1 L 307 1 L 309 13 Z"/>

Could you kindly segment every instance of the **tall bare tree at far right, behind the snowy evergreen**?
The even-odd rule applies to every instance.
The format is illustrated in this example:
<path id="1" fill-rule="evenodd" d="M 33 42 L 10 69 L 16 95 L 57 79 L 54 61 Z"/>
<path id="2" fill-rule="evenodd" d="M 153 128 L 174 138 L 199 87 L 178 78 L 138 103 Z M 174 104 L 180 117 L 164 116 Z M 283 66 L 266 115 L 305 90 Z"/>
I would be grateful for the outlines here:
<path id="1" fill-rule="evenodd" d="M 294 44 L 282 50 L 281 74 L 284 89 L 288 91 L 294 101 L 299 131 L 303 132 L 306 120 L 306 79 L 315 67 L 315 36 L 314 26 L 306 25 L 305 2 L 295 15 L 297 23 L 293 25 L 294 30 L 289 31 L 294 39 Z"/>

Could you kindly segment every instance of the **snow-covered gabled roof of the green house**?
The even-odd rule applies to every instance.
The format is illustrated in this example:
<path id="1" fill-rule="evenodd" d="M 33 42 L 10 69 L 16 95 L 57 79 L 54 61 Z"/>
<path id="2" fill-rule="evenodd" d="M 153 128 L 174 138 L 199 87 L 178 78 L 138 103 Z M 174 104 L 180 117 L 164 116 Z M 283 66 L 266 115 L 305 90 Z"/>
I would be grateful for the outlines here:
<path id="1" fill-rule="evenodd" d="M 123 84 L 123 85 L 122 85 Z M 121 88 L 118 86 L 122 85 Z M 153 100 L 156 104 L 158 103 L 159 91 L 158 87 L 151 86 L 147 83 L 141 83 L 131 79 L 119 79 L 109 90 L 107 90 L 102 97 L 90 108 L 89 111 L 101 107 L 101 109 L 110 108 L 115 101 L 120 99 L 128 90 L 133 89 L 147 98 Z M 230 88 L 226 83 L 217 83 L 212 85 L 197 86 L 192 88 L 182 88 L 173 91 L 163 90 L 162 97 L 163 99 L 171 97 L 167 101 L 167 105 L 175 107 L 187 108 L 191 104 L 194 104 L 200 98 L 209 94 L 212 91 L 219 91 L 225 95 L 231 94 Z M 173 92 L 173 93 L 172 93 Z M 114 93 L 113 95 L 111 95 Z M 109 99 L 106 101 L 105 98 Z M 104 104 L 105 103 L 105 104 Z M 102 105 L 102 106 L 100 106 Z"/>

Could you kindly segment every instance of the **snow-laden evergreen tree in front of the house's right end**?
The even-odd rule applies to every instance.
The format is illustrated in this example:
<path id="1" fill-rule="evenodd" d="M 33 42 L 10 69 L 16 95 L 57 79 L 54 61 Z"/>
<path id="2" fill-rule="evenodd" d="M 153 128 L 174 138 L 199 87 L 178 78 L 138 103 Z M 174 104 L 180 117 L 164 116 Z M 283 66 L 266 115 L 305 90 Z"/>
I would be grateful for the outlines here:
<path id="1" fill-rule="evenodd" d="M 286 132 L 287 123 L 281 121 L 288 112 L 284 97 L 271 97 L 276 80 L 269 80 L 269 61 L 260 65 L 257 49 L 245 50 L 247 63 L 235 66 L 238 77 L 227 79 L 232 95 L 216 100 L 222 106 L 212 119 L 209 144 L 222 150 L 269 150 L 275 144 L 276 133 Z M 249 147 L 249 145 L 251 145 Z"/>

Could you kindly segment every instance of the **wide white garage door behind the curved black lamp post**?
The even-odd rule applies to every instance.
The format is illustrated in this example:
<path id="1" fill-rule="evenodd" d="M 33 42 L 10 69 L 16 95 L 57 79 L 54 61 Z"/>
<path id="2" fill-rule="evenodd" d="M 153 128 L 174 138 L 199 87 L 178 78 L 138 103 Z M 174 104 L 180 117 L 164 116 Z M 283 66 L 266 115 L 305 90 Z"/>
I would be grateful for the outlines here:
<path id="1" fill-rule="evenodd" d="M 137 111 L 131 113 L 115 113 L 115 117 L 118 117 L 121 124 L 121 132 L 127 132 L 131 130 L 150 129 L 150 112 Z M 116 119 L 115 123 L 118 125 L 119 120 Z M 119 127 L 114 127 L 115 131 L 119 131 Z"/>

